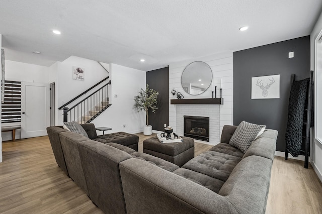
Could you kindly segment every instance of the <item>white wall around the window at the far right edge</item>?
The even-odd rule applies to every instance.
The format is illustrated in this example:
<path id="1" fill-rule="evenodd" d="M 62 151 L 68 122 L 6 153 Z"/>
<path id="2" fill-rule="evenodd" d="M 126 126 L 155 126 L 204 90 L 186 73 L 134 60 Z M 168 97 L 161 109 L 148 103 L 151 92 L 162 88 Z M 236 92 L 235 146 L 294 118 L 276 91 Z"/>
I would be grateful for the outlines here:
<path id="1" fill-rule="evenodd" d="M 321 126 L 317 127 L 316 126 L 316 115 L 317 114 L 322 114 L 321 112 L 321 107 L 322 106 L 316 106 L 316 98 L 317 96 L 320 97 L 320 93 L 321 91 L 319 90 L 319 92 L 317 93 L 317 88 L 321 87 L 322 84 L 322 69 L 316 69 L 315 67 L 315 39 L 317 38 L 318 34 L 320 33 L 320 31 L 322 30 L 322 14 L 320 15 L 320 17 L 318 18 L 313 31 L 311 32 L 310 35 L 310 42 L 311 42 L 311 70 L 314 70 L 314 74 L 315 74 L 315 79 L 314 79 L 314 95 L 315 95 L 315 126 L 314 126 L 314 130 L 316 131 L 316 129 L 322 129 Z M 322 54 L 320 55 L 322 56 Z M 318 85 L 318 87 L 317 87 Z M 320 99 L 320 98 L 319 98 Z M 320 121 L 319 121 L 320 123 Z M 316 172 L 317 176 L 319 177 L 319 179 L 322 181 L 322 143 L 319 142 L 316 139 L 315 136 L 315 132 L 314 130 L 311 130 L 312 133 L 312 137 L 311 137 L 311 153 L 310 153 L 310 160 L 311 160 L 311 164 L 314 168 L 314 171 Z"/>

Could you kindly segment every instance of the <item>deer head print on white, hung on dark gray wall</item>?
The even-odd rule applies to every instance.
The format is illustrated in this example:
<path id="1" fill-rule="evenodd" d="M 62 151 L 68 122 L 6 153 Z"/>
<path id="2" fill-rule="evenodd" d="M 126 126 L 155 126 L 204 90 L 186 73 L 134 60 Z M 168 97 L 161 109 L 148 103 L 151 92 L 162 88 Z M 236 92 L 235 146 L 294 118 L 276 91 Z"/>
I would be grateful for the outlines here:
<path id="1" fill-rule="evenodd" d="M 252 99 L 279 99 L 280 75 L 252 77 Z"/>

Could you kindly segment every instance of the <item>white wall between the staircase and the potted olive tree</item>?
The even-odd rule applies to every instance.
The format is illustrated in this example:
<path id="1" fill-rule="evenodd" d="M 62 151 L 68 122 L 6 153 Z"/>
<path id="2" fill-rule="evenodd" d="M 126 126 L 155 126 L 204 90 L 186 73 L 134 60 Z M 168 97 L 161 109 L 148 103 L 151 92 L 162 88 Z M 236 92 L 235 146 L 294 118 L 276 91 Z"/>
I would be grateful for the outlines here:
<path id="1" fill-rule="evenodd" d="M 111 64 L 111 93 L 112 105 L 105 110 L 92 123 L 96 127 L 110 127 L 111 131 L 105 131 L 104 134 L 113 132 L 139 133 L 143 131 L 145 125 L 145 112 L 137 113 L 133 109 L 134 96 L 138 94 L 141 88 L 145 88 L 146 73 L 141 70 Z M 117 97 L 115 97 L 117 95 Z M 125 127 L 123 125 L 125 124 Z M 98 135 L 103 133 L 97 131 Z"/>

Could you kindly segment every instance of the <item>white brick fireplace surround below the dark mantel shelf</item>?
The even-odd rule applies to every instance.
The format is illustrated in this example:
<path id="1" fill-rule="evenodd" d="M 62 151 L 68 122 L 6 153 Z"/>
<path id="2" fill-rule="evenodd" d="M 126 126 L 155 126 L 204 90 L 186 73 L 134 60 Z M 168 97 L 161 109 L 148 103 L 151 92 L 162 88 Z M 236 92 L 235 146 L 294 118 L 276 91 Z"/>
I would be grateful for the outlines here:
<path id="1" fill-rule="evenodd" d="M 180 104 L 176 105 L 177 112 L 177 134 L 184 134 L 184 117 L 209 117 L 209 144 L 217 144 L 220 138 L 219 132 L 219 105 Z M 207 142 L 208 143 L 208 142 Z"/>

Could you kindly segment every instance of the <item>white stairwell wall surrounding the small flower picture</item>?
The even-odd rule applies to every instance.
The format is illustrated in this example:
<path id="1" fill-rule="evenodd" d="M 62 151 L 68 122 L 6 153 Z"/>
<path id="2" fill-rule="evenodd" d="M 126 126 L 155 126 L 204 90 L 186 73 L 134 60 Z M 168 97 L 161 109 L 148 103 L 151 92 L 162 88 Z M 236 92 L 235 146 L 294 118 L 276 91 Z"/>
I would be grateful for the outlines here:
<path id="1" fill-rule="evenodd" d="M 107 70 L 109 70 L 108 64 L 103 65 Z M 84 69 L 84 81 L 72 79 L 73 66 Z M 97 61 L 76 56 L 70 56 L 63 62 L 53 64 L 50 67 L 50 70 L 52 71 L 52 74 L 50 75 L 50 83 L 55 82 L 56 88 L 56 125 L 62 125 L 63 123 L 62 110 L 58 110 L 62 104 L 71 100 L 78 94 L 81 94 L 109 75 L 109 73 Z M 109 80 L 110 79 L 107 81 Z M 101 86 L 103 86 L 103 83 Z M 97 90 L 98 87 L 94 88 L 92 91 L 89 91 L 88 94 Z M 86 94 L 83 97 L 85 98 Z M 67 107 L 70 108 L 80 100 L 81 99 L 77 99 L 75 102 L 68 104 Z"/>

